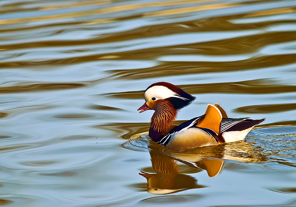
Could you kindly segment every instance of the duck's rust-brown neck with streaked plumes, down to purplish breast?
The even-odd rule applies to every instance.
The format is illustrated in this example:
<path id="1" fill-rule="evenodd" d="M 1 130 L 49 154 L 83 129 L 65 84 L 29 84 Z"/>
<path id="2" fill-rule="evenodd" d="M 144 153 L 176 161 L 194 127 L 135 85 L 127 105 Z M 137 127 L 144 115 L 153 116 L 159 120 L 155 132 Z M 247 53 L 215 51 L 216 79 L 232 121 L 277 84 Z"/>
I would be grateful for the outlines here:
<path id="1" fill-rule="evenodd" d="M 151 118 L 149 136 L 154 141 L 160 139 L 173 127 L 172 123 L 177 118 L 178 111 L 168 100 L 162 100 L 155 106 L 155 112 Z"/>

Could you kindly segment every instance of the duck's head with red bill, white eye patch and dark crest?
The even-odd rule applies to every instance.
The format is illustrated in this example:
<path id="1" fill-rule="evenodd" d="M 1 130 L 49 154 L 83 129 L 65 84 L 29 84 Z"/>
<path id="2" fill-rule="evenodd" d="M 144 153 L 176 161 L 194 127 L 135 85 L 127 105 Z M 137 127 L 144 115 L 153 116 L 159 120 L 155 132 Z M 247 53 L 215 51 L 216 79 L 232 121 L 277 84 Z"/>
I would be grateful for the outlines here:
<path id="1" fill-rule="evenodd" d="M 144 99 L 146 102 L 138 108 L 139 113 L 146 110 L 157 111 L 159 108 L 168 105 L 173 106 L 178 111 L 189 105 L 195 97 L 173 84 L 158 82 L 150 85 L 145 90 Z"/>

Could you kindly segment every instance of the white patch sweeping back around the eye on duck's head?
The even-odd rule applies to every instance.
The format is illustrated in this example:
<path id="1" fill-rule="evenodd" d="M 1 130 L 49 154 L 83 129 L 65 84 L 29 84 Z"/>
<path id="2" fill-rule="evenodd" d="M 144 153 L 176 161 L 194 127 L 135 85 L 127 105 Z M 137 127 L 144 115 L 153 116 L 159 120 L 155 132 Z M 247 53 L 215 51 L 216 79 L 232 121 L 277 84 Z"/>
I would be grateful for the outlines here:
<path id="1" fill-rule="evenodd" d="M 153 97 L 155 97 L 156 99 L 166 99 L 169 97 L 176 97 L 182 100 L 188 100 L 186 98 L 178 96 L 177 93 L 173 92 L 172 90 L 168 89 L 165 86 L 153 86 L 144 93 L 144 98 L 146 101 L 151 100 Z"/>

